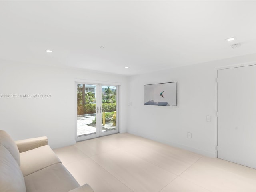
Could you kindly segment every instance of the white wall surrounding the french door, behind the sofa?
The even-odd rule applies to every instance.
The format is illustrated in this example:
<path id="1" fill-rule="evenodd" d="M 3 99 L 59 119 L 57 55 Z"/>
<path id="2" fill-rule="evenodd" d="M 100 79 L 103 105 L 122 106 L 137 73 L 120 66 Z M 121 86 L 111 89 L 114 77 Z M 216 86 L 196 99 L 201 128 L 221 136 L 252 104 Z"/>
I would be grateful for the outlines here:
<path id="1" fill-rule="evenodd" d="M 14 140 L 47 136 L 52 148 L 75 143 L 75 80 L 118 82 L 120 132 L 126 132 L 127 78 L 86 70 L 0 60 L 0 129 Z M 4 94 L 51 94 L 51 98 L 1 98 Z"/>

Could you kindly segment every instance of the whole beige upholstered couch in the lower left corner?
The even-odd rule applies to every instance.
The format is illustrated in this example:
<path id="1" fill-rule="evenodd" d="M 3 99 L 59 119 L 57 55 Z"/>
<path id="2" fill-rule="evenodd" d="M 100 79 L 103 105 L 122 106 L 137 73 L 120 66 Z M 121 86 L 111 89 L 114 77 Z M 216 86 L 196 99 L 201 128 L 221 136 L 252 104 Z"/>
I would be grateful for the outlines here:
<path id="1" fill-rule="evenodd" d="M 46 137 L 14 142 L 0 130 L 0 192 L 93 192 L 80 186 Z"/>

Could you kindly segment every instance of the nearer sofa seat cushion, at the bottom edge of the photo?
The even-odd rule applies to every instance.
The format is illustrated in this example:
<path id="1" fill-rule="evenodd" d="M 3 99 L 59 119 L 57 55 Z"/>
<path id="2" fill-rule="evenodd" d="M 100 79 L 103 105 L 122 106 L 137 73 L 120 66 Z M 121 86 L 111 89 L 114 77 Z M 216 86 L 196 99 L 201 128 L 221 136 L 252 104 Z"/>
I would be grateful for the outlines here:
<path id="1" fill-rule="evenodd" d="M 24 177 L 27 192 L 68 192 L 80 187 L 61 164 L 53 164 Z"/>

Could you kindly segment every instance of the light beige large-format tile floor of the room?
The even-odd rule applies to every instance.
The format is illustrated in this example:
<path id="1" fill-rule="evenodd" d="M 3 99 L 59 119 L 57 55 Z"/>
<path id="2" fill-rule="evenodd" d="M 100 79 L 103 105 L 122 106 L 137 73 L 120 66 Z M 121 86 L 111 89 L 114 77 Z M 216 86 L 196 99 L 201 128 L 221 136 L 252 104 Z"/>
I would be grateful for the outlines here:
<path id="1" fill-rule="evenodd" d="M 131 134 L 54 150 L 95 192 L 256 192 L 256 170 Z"/>

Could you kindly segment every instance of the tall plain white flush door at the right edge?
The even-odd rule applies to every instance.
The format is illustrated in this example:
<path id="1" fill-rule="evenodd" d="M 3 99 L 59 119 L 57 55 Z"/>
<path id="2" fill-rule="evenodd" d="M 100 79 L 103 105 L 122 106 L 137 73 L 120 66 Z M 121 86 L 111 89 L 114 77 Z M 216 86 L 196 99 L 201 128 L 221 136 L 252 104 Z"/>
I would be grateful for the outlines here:
<path id="1" fill-rule="evenodd" d="M 256 168 L 256 65 L 218 70 L 218 158 Z"/>

